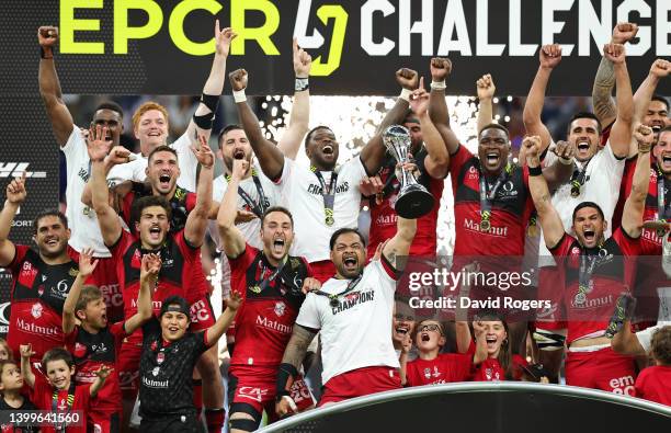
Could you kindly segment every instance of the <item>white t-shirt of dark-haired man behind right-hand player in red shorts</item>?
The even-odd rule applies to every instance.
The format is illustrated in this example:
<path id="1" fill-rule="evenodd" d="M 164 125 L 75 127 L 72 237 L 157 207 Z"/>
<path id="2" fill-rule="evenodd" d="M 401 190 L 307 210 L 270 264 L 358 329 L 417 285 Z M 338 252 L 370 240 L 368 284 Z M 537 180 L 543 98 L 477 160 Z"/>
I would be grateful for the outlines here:
<path id="1" fill-rule="evenodd" d="M 551 145 L 554 145 L 554 143 Z M 547 157 L 545 158 L 546 166 L 551 166 L 557 158 L 558 157 L 554 152 L 547 152 Z M 576 161 L 576 163 L 582 166 L 580 162 Z M 619 183 L 622 182 L 624 166 L 625 159 L 615 158 L 613 149 L 611 149 L 611 141 L 609 141 L 603 149 L 599 150 L 596 155 L 590 159 L 587 167 L 584 184 L 580 189 L 580 195 L 577 197 L 571 196 L 570 182 L 557 189 L 555 194 L 553 194 L 553 206 L 561 217 L 564 229 L 567 232 L 572 235 L 572 216 L 576 206 L 582 202 L 594 202 L 601 207 L 605 220 L 609 223 L 604 237 L 607 239 L 611 236 L 613 212 L 615 210 L 619 197 Z M 541 239 L 545 238 L 542 237 Z M 538 259 L 539 266 L 555 264 L 553 254 L 547 249 L 545 240 L 541 242 Z"/>

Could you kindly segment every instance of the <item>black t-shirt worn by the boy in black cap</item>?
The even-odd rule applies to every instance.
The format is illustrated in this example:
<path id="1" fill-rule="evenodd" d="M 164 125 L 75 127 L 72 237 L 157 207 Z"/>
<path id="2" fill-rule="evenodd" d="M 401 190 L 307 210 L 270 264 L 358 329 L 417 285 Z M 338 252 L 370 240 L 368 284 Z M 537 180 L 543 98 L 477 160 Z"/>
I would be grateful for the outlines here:
<path id="1" fill-rule="evenodd" d="M 158 319 L 143 326 L 140 357 L 140 415 L 148 420 L 167 414 L 195 414 L 191 375 L 198 357 L 209 346 L 205 332 L 186 332 L 168 343 Z"/>

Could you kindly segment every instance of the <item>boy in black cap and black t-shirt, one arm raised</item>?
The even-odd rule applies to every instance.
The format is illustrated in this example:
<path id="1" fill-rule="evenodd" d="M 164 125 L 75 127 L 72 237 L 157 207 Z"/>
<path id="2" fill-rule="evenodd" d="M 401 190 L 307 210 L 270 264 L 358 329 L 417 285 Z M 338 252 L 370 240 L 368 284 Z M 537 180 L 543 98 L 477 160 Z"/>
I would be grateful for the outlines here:
<path id="1" fill-rule="evenodd" d="M 197 432 L 191 374 L 201 355 L 226 332 L 241 304 L 231 293 L 226 310 L 205 331 L 191 332 L 189 304 L 179 296 L 163 300 L 159 319 L 143 326 L 140 357 L 140 431 Z"/>

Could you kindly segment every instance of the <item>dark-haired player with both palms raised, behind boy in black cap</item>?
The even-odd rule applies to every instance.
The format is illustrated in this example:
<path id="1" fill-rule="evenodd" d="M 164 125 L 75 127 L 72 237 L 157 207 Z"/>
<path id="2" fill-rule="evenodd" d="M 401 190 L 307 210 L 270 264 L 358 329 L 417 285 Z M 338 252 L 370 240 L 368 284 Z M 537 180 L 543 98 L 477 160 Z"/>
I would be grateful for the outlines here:
<path id="1" fill-rule="evenodd" d="M 214 153 L 209 150 L 205 139 L 201 137 L 201 147 L 192 147 L 196 159 L 201 163 L 198 187 L 194 208 L 189 213 L 184 228 L 170 232 L 172 206 L 161 194 L 139 198 L 135 203 L 134 228 L 139 239 L 122 229 L 118 215 L 109 203 L 109 190 L 104 184 L 105 157 L 109 141 L 104 140 L 105 130 L 96 128 L 89 135 L 89 156 L 93 166 L 91 192 L 93 194 L 93 208 L 95 209 L 105 246 L 110 248 L 116 261 L 118 281 L 122 283 L 124 295 L 124 311 L 130 317 L 136 311 L 135 299 L 139 285 L 140 257 L 148 252 L 161 254 L 162 266 L 159 273 L 158 286 L 153 295 L 155 312 L 160 308 L 161 301 L 170 295 L 180 295 L 191 305 L 194 317 L 194 329 L 205 329 L 214 323 L 214 315 L 209 307 L 207 282 L 203 275 L 200 248 L 205 239 L 207 215 L 212 208 L 212 172 Z M 161 153 L 158 151 L 157 153 Z M 172 152 L 166 153 L 173 156 Z M 153 160 L 152 160 L 153 161 Z M 177 166 L 177 161 L 174 161 Z M 160 181 L 160 179 L 159 179 Z M 174 186 L 173 176 L 169 182 Z M 141 334 L 135 332 L 130 335 L 122 350 L 120 358 L 120 373 L 136 376 L 137 363 L 141 352 Z M 215 403 L 205 401 L 206 419 L 211 431 L 221 428 L 223 387 L 216 360 L 216 349 L 208 352 L 209 356 L 200 358 L 198 372 L 213 389 Z M 126 389 L 128 400 L 137 394 L 137 386 Z M 133 396 L 134 398 L 134 396 Z"/>

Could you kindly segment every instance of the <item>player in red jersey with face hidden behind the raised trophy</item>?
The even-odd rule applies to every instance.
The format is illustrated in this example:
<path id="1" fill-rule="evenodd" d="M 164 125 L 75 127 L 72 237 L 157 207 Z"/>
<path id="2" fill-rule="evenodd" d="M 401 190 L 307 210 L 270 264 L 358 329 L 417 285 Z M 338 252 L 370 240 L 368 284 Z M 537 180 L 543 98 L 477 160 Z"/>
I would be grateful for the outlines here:
<path id="1" fill-rule="evenodd" d="M 445 78 L 452 71 L 452 62 L 445 58 L 431 59 L 432 89 L 444 89 Z M 422 86 L 420 86 L 422 88 Z M 413 95 L 414 96 L 414 95 Z M 410 255 L 433 257 L 436 251 L 437 214 L 441 207 L 444 179 L 450 168 L 447 149 L 436 127 L 429 116 L 431 98 L 444 98 L 436 92 L 418 94 L 410 101 L 411 111 L 403 119 L 403 126 L 410 132 L 411 145 L 409 152 L 418 168 L 418 182 L 435 198 L 431 212 L 417 220 L 418 232 L 414 237 Z M 396 159 L 386 155 L 378 173 L 382 191 L 369 200 L 371 229 L 368 259 L 375 255 L 377 246 L 396 232 L 396 210 L 394 206 L 398 198 L 400 182 L 396 178 Z"/>

